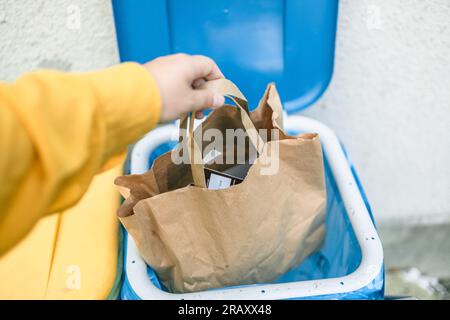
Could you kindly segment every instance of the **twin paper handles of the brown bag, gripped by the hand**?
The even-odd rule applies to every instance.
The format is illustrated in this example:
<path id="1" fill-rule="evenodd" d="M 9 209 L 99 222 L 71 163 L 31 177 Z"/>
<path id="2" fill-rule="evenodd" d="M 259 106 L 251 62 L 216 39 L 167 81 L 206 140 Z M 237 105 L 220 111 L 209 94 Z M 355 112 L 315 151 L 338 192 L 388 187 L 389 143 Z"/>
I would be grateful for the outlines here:
<path id="1" fill-rule="evenodd" d="M 256 148 L 258 154 L 261 154 L 265 144 L 264 140 L 262 140 L 261 136 L 258 134 L 258 131 L 256 130 L 255 125 L 250 119 L 247 99 L 238 89 L 238 87 L 230 80 L 218 79 L 207 81 L 201 88 L 209 89 L 215 94 L 221 94 L 225 97 L 228 97 L 235 103 L 236 107 L 238 107 L 238 109 L 240 110 L 242 125 L 244 126 L 250 141 Z M 188 113 L 186 113 L 180 117 L 180 142 L 181 142 L 181 130 L 183 129 L 186 130 L 188 118 L 190 118 L 188 131 L 189 132 L 188 152 L 189 152 L 189 160 L 191 162 L 192 178 L 196 186 L 206 188 L 202 152 L 193 137 L 195 117 L 192 113 L 190 114 L 190 116 Z M 196 162 L 195 160 L 198 161 Z"/>

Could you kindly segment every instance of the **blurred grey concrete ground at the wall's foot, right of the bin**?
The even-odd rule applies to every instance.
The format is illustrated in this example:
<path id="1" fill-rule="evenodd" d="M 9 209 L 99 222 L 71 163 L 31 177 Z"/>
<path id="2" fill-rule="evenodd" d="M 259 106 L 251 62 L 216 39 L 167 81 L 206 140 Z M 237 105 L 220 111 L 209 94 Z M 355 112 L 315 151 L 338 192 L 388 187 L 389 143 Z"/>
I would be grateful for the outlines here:
<path id="1" fill-rule="evenodd" d="M 382 225 L 386 295 L 450 299 L 450 224 Z"/>

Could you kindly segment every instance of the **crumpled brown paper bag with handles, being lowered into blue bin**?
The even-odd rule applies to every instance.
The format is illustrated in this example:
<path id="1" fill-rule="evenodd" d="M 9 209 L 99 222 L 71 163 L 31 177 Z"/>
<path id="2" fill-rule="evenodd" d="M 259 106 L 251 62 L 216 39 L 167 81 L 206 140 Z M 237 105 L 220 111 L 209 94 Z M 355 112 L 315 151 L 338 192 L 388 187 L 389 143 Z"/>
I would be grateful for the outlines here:
<path id="1" fill-rule="evenodd" d="M 325 230 L 318 135 L 291 137 L 283 132 L 273 84 L 251 113 L 231 82 L 217 80 L 206 86 L 230 97 L 238 108 L 215 110 L 189 136 L 189 159 L 200 161 L 176 165 L 171 160 L 174 150 L 156 159 L 149 172 L 115 181 L 126 198 L 118 212 L 120 221 L 162 283 L 177 293 L 273 281 L 317 250 Z M 187 116 L 180 122 L 186 127 Z M 247 150 L 254 148 L 259 158 L 241 184 L 222 190 L 204 187 L 201 152 L 207 144 L 196 133 L 208 128 L 247 131 Z M 251 132 L 259 129 L 272 129 L 279 138 Z M 271 146 L 278 147 L 278 169 L 263 174 L 264 160 L 270 157 L 265 151 Z M 229 166 L 207 167 L 221 171 Z"/>

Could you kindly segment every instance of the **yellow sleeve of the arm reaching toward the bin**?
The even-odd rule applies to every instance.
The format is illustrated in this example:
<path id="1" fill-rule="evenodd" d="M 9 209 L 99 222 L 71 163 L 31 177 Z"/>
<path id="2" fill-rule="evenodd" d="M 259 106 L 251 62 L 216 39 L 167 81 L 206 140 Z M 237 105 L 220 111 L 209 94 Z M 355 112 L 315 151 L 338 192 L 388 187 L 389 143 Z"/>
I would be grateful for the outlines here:
<path id="1" fill-rule="evenodd" d="M 123 160 L 127 145 L 157 124 L 160 109 L 155 80 L 135 63 L 0 83 L 0 256 Z"/>

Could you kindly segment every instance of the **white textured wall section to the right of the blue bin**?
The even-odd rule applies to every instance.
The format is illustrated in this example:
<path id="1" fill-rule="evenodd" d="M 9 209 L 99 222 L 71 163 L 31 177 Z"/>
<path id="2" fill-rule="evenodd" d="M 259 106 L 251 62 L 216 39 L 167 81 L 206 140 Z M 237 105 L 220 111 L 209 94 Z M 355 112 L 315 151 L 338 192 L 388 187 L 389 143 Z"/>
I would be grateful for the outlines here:
<path id="1" fill-rule="evenodd" d="M 335 73 L 306 114 L 346 145 L 375 215 L 450 219 L 450 0 L 347 0 Z"/>

